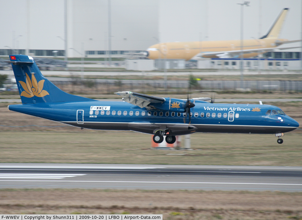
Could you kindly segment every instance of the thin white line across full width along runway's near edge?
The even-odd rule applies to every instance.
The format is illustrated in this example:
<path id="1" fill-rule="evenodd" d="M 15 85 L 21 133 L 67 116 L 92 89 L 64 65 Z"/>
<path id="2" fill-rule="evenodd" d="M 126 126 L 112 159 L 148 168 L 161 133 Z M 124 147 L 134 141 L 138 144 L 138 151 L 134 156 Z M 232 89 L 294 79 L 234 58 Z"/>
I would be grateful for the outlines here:
<path id="1" fill-rule="evenodd" d="M 185 184 L 239 184 L 239 185 L 284 185 L 302 186 L 294 183 L 257 183 L 257 182 L 153 182 L 153 181 L 72 181 L 72 180 L 0 180 L 0 182 L 116 182 L 116 183 L 185 183 Z"/>

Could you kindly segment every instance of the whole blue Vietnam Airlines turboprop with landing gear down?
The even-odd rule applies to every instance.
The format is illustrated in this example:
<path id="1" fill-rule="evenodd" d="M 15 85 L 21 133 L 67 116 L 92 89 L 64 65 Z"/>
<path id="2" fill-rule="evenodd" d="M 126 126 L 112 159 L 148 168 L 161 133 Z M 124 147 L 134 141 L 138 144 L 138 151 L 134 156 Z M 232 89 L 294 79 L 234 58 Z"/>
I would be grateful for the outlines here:
<path id="1" fill-rule="evenodd" d="M 63 92 L 40 72 L 34 59 L 10 55 L 22 104 L 8 109 L 95 130 L 132 130 L 174 143 L 195 132 L 275 134 L 278 143 L 299 123 L 272 105 L 209 103 L 210 98 L 175 99 L 117 92 L 124 102 L 105 102 Z"/>

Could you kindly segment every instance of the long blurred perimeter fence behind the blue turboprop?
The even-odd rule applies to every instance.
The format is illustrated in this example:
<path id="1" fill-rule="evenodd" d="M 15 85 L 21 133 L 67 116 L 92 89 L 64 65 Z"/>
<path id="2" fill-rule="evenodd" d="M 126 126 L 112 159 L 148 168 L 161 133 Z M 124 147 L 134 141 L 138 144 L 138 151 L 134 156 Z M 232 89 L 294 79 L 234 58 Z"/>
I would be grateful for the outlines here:
<path id="1" fill-rule="evenodd" d="M 189 81 L 168 80 L 165 91 L 164 80 L 100 80 L 71 79 L 70 81 L 53 81 L 57 87 L 76 94 L 112 94 L 117 91 L 134 91 L 140 93 L 177 93 L 187 94 Z M 240 90 L 263 92 L 302 92 L 302 81 L 259 81 L 259 80 L 200 80 L 192 90 Z"/>

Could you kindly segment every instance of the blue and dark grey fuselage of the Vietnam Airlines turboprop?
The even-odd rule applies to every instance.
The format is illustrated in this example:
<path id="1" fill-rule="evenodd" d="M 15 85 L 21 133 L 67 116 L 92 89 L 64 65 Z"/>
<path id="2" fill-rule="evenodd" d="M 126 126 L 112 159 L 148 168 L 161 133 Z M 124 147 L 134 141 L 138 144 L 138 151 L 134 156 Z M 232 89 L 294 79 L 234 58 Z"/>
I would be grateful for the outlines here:
<path id="1" fill-rule="evenodd" d="M 86 129 L 133 130 L 148 134 L 163 129 L 169 129 L 170 135 L 194 132 L 269 134 L 289 132 L 299 126 L 280 108 L 255 104 L 195 103 L 191 108 L 191 124 L 184 123 L 184 113 L 146 110 L 126 102 L 34 103 L 8 108 Z"/>

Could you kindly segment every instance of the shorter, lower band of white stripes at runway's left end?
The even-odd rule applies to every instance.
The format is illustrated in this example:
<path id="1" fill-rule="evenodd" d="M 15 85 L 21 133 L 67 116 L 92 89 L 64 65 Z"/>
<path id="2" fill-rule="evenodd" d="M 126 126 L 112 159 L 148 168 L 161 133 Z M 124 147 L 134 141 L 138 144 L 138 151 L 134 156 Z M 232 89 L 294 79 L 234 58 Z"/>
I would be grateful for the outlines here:
<path id="1" fill-rule="evenodd" d="M 63 179 L 66 177 L 83 176 L 86 174 L 44 174 L 44 173 L 2 173 L 0 179 Z"/>

